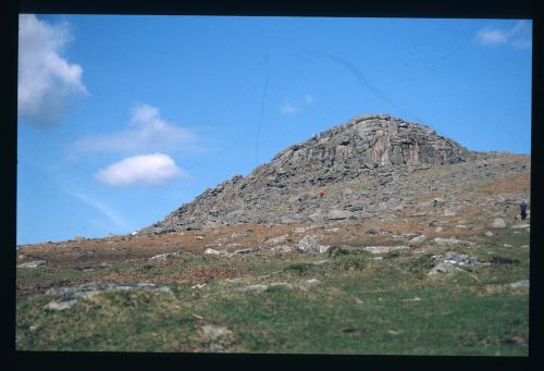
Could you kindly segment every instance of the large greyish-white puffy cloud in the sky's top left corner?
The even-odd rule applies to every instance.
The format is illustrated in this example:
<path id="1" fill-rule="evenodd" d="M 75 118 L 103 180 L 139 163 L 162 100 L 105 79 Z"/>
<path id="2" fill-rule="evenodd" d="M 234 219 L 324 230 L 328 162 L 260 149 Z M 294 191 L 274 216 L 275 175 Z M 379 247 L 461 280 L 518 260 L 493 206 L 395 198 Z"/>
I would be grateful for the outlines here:
<path id="1" fill-rule="evenodd" d="M 18 25 L 18 114 L 37 124 L 53 123 L 73 96 L 87 94 L 82 66 L 61 57 L 72 33 L 66 23 L 52 25 L 34 14 L 21 14 Z"/>

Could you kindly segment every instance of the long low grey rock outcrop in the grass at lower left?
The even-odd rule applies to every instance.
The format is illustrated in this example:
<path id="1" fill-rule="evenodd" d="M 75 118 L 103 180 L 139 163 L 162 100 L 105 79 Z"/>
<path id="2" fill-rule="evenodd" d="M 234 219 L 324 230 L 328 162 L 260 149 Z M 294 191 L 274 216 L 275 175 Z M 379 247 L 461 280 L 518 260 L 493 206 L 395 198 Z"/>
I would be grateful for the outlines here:
<path id="1" fill-rule="evenodd" d="M 49 302 L 44 309 L 51 311 L 66 310 L 78 300 L 88 299 L 100 293 L 126 292 L 133 289 L 152 289 L 172 294 L 170 287 L 152 283 L 89 283 L 75 287 L 53 287 L 48 289 L 45 295 L 61 295 L 61 298 Z"/>

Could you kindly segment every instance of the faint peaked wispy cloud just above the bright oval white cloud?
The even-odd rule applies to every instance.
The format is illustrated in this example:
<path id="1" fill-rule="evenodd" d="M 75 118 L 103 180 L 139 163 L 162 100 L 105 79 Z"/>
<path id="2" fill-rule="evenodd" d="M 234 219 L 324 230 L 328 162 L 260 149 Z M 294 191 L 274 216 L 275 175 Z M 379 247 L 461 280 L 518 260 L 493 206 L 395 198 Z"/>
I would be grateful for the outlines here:
<path id="1" fill-rule="evenodd" d="M 137 153 L 141 151 L 180 150 L 195 143 L 191 131 L 161 119 L 157 108 L 138 104 L 133 109 L 129 126 L 135 128 L 77 140 L 76 151 Z"/>

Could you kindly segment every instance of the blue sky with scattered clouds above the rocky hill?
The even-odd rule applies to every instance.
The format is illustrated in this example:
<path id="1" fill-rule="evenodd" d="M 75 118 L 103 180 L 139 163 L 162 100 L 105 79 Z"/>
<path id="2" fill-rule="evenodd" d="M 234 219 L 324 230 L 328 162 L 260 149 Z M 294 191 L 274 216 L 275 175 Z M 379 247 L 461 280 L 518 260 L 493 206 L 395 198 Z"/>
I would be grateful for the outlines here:
<path id="1" fill-rule="evenodd" d="M 147 226 L 358 114 L 530 153 L 531 27 L 21 15 L 17 244 Z"/>

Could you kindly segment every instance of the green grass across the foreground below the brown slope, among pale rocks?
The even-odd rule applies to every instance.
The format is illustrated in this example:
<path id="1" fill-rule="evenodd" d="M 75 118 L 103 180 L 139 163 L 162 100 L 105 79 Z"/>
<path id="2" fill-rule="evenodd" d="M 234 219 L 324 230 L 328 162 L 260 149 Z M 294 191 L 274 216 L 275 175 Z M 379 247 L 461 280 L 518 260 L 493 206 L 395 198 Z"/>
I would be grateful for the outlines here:
<path id="1" fill-rule="evenodd" d="M 529 249 L 502 245 L 529 244 L 529 234 L 514 235 L 508 228 L 494 238 L 453 250 L 482 261 L 496 255 L 519 263 L 480 265 L 441 279 L 426 276 L 430 257 L 452 248 L 383 255 L 381 261 L 364 251 L 345 249 L 333 257 L 184 256 L 165 264 L 140 262 L 94 272 L 18 270 L 18 283 L 27 286 L 98 281 L 111 270 L 148 274 L 157 281 L 161 272 L 182 274 L 199 268 L 245 273 L 240 282 L 211 280 L 202 288 L 172 284 L 173 294 L 104 293 L 60 312 L 45 311 L 51 298 L 40 293 L 20 295 L 16 348 L 207 351 L 214 344 L 234 353 L 527 356 L 528 290 L 506 289 L 504 284 L 528 279 Z M 322 259 L 331 261 L 308 264 Z M 304 286 L 309 279 L 319 282 Z M 273 282 L 302 286 L 234 289 Z M 226 326 L 232 334 L 207 338 L 201 332 L 206 324 Z"/>

